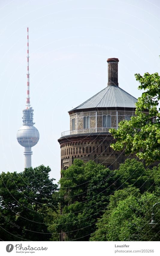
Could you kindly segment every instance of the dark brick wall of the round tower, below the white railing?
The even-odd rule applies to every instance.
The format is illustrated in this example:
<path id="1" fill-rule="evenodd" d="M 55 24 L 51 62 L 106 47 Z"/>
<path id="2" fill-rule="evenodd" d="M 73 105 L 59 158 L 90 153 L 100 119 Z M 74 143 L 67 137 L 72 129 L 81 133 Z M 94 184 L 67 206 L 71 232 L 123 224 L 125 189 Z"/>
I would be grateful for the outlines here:
<path id="1" fill-rule="evenodd" d="M 110 166 L 114 170 L 118 169 L 119 164 L 128 157 L 124 152 L 116 152 L 110 147 L 110 144 L 113 143 L 111 134 L 99 135 L 94 138 L 89 136 L 83 140 L 80 135 L 77 135 L 76 141 L 71 141 L 71 138 L 64 140 L 63 143 L 60 143 L 62 169 L 71 166 L 74 159 L 81 159 L 85 162 L 93 160 L 106 167 Z"/>

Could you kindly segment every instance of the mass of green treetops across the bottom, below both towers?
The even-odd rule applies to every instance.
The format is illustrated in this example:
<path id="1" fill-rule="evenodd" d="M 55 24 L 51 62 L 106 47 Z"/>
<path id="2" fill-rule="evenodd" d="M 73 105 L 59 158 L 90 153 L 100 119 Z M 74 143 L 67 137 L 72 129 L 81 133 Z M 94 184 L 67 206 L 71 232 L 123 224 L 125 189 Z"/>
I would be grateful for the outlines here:
<path id="1" fill-rule="evenodd" d="M 160 166 L 145 169 L 128 159 L 110 171 L 93 161 L 74 160 L 62 170 L 59 191 L 49 172 L 43 165 L 2 172 L 1 240 L 59 241 L 61 231 L 68 241 L 158 240 L 158 228 L 147 223 L 158 202 Z"/>

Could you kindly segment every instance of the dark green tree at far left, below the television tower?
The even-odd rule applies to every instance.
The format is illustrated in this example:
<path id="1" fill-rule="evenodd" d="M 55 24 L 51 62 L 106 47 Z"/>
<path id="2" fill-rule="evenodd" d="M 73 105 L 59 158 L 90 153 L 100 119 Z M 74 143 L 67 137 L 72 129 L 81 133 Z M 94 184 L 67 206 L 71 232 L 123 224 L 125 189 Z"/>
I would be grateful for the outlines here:
<path id="1" fill-rule="evenodd" d="M 43 165 L 24 172 L 2 172 L 0 179 L 0 221 L 2 240 L 49 240 L 45 218 L 57 210 L 57 187 L 49 178 L 50 168 Z M 52 213 L 50 213 L 52 209 Z"/>

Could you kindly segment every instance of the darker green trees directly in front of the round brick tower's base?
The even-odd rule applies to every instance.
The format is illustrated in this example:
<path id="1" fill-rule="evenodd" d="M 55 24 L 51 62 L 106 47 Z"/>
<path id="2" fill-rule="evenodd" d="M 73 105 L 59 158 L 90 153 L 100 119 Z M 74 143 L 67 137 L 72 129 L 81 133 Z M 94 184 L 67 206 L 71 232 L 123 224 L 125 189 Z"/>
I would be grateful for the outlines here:
<path id="1" fill-rule="evenodd" d="M 50 226 L 52 240 L 57 241 L 57 234 L 62 230 L 68 241 L 88 241 L 96 230 L 98 218 L 102 217 L 106 209 L 109 215 L 119 200 L 125 200 L 128 195 L 133 197 L 128 200 L 134 204 L 138 195 L 140 197 L 145 191 L 152 193 L 157 189 L 160 182 L 159 170 L 160 166 L 153 170 L 145 169 L 143 163 L 135 159 L 126 160 L 119 170 L 114 171 L 93 161 L 84 163 L 82 160 L 74 160 L 67 170 L 62 170 L 59 196 L 63 214 L 57 215 Z M 118 214 L 120 218 L 121 211 Z M 101 225 L 101 222 L 98 223 Z M 101 229 L 105 236 L 104 223 Z"/>

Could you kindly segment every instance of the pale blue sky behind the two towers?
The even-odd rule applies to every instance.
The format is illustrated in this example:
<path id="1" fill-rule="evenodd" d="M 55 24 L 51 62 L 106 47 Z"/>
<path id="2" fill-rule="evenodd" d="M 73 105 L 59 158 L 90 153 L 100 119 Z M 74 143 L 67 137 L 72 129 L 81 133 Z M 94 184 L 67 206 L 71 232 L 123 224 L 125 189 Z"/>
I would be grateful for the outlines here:
<path id="1" fill-rule="evenodd" d="M 57 139 L 69 130 L 68 111 L 107 85 L 107 58 L 119 58 L 119 86 L 134 97 L 134 74 L 160 70 L 158 0 L 1 0 L 0 83 L 2 171 L 23 171 L 16 139 L 26 104 L 26 27 L 30 97 L 40 133 L 33 167 L 60 177 Z"/>

